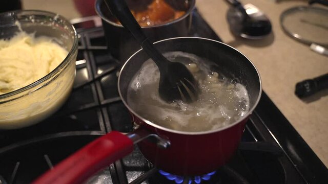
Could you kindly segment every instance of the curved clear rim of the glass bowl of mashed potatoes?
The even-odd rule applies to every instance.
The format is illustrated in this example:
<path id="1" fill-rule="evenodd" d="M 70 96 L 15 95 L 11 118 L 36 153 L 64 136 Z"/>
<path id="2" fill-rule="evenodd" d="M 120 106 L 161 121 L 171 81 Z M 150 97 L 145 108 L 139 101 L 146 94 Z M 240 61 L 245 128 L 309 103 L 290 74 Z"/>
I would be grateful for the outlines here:
<path id="1" fill-rule="evenodd" d="M 43 10 L 16 10 L 16 11 L 9 11 L 9 12 L 0 13 L 0 16 L 1 15 L 6 15 L 6 14 L 7 14 L 7 16 L 15 16 L 15 15 L 20 14 L 20 13 L 26 13 L 26 14 L 31 14 L 31 15 L 33 13 L 34 13 L 34 15 L 35 14 L 48 15 L 48 16 L 52 16 L 53 18 L 56 18 L 56 19 L 64 20 L 65 22 L 68 23 L 68 25 L 70 25 L 70 27 L 72 28 L 72 30 L 74 32 L 73 45 L 72 45 L 70 51 L 68 52 L 67 56 L 65 57 L 65 59 L 63 61 L 61 61 L 59 63 L 59 65 L 57 67 L 55 67 L 54 70 L 52 70 L 49 74 L 47 74 L 46 76 L 38 79 L 37 81 L 35 81 L 35 82 L 33 82 L 33 83 L 31 83 L 27 86 L 24 86 L 24 87 L 18 88 L 16 90 L 10 91 L 9 93 L 5 93 L 5 94 L 0 95 L 0 100 L 6 99 L 8 97 L 12 97 L 12 96 L 17 95 L 19 93 L 22 93 L 23 91 L 29 90 L 29 89 L 37 86 L 38 84 L 43 83 L 44 81 L 46 81 L 46 80 L 50 79 L 51 77 L 55 76 L 61 70 L 61 68 L 65 67 L 67 65 L 67 63 L 69 62 L 69 58 L 71 58 L 72 55 L 76 52 L 76 48 L 77 48 L 77 45 L 78 45 L 78 34 L 77 34 L 74 26 L 71 24 L 71 22 L 68 19 L 66 19 L 64 16 L 59 15 L 57 13 L 53 13 L 53 12 L 49 12 L 49 11 L 43 11 Z M 0 102 L 0 104 L 1 103 L 4 103 L 4 102 Z"/>

